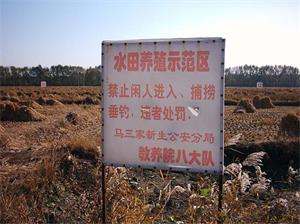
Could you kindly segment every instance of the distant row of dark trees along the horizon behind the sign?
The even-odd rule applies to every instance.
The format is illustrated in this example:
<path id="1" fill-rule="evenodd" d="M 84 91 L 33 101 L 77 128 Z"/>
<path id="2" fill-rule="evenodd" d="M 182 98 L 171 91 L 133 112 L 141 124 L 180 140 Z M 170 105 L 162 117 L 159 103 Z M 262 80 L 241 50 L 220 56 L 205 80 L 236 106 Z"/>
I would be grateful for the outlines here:
<path id="1" fill-rule="evenodd" d="M 83 68 L 80 66 L 55 65 L 42 67 L 0 66 L 0 85 L 39 86 L 41 81 L 53 86 L 98 86 L 101 83 L 101 66 Z M 226 86 L 299 87 L 299 69 L 287 65 L 255 66 L 244 65 L 225 69 Z"/>

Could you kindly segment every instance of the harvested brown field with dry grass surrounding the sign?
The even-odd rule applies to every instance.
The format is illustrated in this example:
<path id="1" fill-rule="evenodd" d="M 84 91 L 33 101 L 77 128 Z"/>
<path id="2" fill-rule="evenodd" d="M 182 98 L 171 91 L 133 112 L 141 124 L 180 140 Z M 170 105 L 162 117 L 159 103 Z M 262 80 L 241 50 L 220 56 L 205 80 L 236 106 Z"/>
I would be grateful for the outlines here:
<path id="1" fill-rule="evenodd" d="M 99 91 L 0 87 L 0 223 L 101 223 Z M 275 107 L 233 113 L 256 95 Z M 299 135 L 280 125 L 288 113 L 299 119 L 299 107 L 287 106 L 299 96 L 296 88 L 226 89 L 222 211 L 215 176 L 109 167 L 108 223 L 299 223 Z M 12 121 L 20 117 L 31 121 Z"/>

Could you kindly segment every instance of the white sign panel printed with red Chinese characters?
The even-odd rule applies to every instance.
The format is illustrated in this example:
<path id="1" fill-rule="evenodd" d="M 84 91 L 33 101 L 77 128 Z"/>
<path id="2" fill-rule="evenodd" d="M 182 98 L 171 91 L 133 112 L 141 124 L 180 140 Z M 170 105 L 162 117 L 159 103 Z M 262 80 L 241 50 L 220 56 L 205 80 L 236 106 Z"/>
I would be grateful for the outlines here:
<path id="1" fill-rule="evenodd" d="M 105 165 L 223 173 L 222 38 L 103 41 Z"/>

